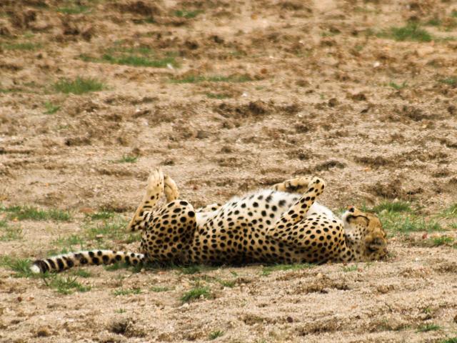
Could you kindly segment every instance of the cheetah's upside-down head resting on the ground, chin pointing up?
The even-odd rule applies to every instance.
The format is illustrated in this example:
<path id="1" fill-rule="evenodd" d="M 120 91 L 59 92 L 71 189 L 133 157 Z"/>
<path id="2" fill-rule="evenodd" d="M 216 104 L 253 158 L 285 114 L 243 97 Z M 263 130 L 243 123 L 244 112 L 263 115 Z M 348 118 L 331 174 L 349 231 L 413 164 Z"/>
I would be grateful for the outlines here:
<path id="1" fill-rule="evenodd" d="M 363 255 L 363 260 L 373 261 L 387 257 L 386 231 L 376 214 L 349 207 L 341 219 L 345 231 L 354 238 L 353 244 Z"/>

